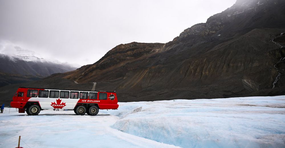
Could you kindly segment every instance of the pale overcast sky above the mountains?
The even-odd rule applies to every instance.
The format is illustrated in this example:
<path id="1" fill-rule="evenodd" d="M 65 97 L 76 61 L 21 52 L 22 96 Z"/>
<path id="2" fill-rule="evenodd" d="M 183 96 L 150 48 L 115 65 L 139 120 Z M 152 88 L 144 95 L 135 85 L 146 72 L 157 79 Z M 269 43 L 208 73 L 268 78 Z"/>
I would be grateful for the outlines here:
<path id="1" fill-rule="evenodd" d="M 235 1 L 0 0 L 0 52 L 19 46 L 50 60 L 93 64 L 119 44 L 172 41 Z"/>

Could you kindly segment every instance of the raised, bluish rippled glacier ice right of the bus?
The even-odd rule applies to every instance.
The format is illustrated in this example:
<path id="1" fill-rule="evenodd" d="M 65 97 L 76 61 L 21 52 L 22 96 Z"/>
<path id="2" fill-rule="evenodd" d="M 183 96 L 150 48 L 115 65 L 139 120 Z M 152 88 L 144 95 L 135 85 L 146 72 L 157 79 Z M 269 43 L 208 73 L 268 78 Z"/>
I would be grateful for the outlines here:
<path id="1" fill-rule="evenodd" d="M 180 147 L 285 147 L 285 96 L 120 104 L 112 127 Z"/>

